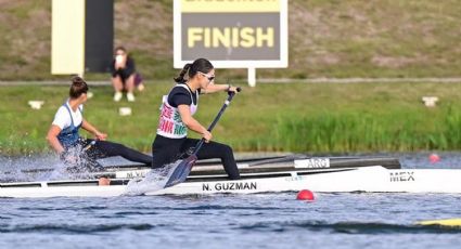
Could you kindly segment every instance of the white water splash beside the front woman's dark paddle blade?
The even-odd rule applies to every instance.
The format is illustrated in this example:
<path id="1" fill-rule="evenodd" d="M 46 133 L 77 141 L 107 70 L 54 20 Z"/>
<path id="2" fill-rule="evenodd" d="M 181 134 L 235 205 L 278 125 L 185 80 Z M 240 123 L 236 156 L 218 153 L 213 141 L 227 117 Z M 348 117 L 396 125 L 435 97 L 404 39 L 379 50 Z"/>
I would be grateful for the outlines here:
<path id="1" fill-rule="evenodd" d="M 124 195 L 144 195 L 148 192 L 156 192 L 164 188 L 166 182 L 180 162 L 181 160 L 177 160 L 162 168 L 152 169 L 144 178 L 135 178 L 130 180 Z"/>

